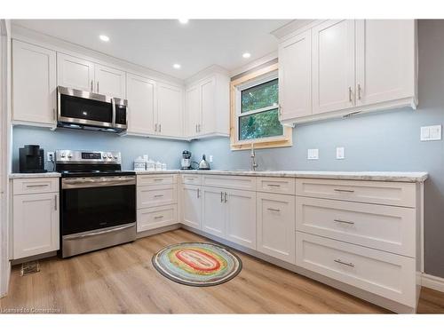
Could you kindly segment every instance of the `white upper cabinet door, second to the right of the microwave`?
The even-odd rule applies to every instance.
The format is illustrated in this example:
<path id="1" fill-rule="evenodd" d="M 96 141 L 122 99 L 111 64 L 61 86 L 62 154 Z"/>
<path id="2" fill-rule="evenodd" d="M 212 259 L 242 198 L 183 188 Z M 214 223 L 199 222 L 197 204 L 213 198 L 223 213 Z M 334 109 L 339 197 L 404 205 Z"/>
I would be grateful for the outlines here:
<path id="1" fill-rule="evenodd" d="M 157 88 L 157 134 L 180 137 L 183 133 L 183 100 L 179 87 L 159 83 Z"/>

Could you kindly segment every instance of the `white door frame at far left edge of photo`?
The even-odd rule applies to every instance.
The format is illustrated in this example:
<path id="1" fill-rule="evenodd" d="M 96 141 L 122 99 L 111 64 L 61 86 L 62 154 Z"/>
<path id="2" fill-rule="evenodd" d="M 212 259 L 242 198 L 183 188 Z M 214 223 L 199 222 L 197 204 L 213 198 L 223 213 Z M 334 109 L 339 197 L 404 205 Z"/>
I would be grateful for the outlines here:
<path id="1" fill-rule="evenodd" d="M 10 172 L 10 22 L 0 20 L 0 297 L 4 297 L 8 291 L 9 278 L 11 274 L 11 264 L 9 262 L 8 244 L 8 198 L 9 182 L 7 175 Z"/>

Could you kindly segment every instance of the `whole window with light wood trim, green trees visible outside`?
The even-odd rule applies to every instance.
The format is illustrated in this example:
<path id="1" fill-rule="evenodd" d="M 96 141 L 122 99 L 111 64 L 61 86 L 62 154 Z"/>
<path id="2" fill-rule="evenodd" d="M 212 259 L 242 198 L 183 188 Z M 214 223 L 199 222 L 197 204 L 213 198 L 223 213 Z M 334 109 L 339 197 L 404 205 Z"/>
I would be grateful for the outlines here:
<path id="1" fill-rule="evenodd" d="M 277 64 L 234 80 L 231 98 L 232 150 L 291 146 L 291 128 L 279 122 Z"/>

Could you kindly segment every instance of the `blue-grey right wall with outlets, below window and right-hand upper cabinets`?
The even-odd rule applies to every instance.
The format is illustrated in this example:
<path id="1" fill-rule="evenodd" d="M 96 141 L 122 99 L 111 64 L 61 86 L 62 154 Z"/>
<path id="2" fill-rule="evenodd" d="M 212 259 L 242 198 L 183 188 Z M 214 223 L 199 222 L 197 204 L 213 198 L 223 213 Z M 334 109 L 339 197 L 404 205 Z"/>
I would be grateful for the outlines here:
<path id="1" fill-rule="evenodd" d="M 444 141 L 419 141 L 420 126 L 444 123 L 444 20 L 420 20 L 419 107 L 297 126 L 293 147 L 257 150 L 260 170 L 428 171 L 424 194 L 425 271 L 444 277 Z M 345 147 L 345 159 L 336 159 Z M 319 160 L 307 160 L 318 148 Z M 228 139 L 194 141 L 194 155 L 214 156 L 213 169 L 248 169 L 250 152 Z"/>

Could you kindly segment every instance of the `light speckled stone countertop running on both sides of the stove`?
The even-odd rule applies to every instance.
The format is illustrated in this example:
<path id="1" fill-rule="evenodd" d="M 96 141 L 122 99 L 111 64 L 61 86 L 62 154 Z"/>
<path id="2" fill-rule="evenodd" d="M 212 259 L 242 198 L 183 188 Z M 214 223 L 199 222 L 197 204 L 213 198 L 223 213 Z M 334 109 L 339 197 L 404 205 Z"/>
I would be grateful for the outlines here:
<path id="1" fill-rule="evenodd" d="M 373 181 L 424 182 L 428 178 L 427 172 L 396 172 L 396 171 L 250 171 L 250 170 L 146 170 L 136 171 L 138 175 L 196 173 L 207 175 L 228 176 L 261 176 L 261 177 L 288 177 L 288 178 L 321 178 Z M 12 173 L 9 178 L 52 178 L 60 177 L 59 172 L 45 173 Z"/>

